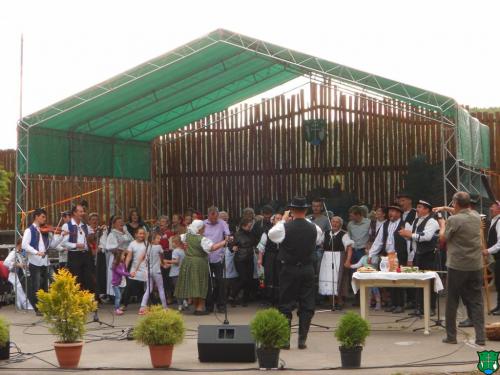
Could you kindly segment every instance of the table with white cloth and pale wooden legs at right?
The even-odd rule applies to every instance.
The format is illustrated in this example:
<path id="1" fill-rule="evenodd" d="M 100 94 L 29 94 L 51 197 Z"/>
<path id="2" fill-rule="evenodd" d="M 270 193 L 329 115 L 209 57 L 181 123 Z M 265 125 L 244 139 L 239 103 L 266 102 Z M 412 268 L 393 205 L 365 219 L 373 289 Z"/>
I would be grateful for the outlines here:
<path id="1" fill-rule="evenodd" d="M 443 289 L 443 283 L 436 272 L 355 272 L 352 275 L 352 290 L 360 291 L 360 314 L 368 318 L 369 293 L 368 288 L 423 288 L 424 289 L 424 334 L 428 335 L 430 321 L 431 280 L 434 279 L 434 291 Z"/>

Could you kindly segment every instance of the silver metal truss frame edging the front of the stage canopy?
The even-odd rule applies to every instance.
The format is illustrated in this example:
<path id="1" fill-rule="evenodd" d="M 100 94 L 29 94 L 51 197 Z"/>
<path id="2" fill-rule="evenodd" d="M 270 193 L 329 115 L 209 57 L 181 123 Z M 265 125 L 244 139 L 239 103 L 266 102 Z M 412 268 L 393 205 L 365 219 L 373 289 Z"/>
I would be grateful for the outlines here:
<path id="1" fill-rule="evenodd" d="M 334 82 L 351 90 L 357 90 L 358 92 L 362 91 L 378 97 L 397 99 L 440 114 L 441 118 L 439 122 L 442 135 L 441 148 L 443 156 L 444 202 L 447 204 L 449 201 L 447 194 L 449 189 L 452 191 L 466 190 L 472 193 L 480 192 L 481 185 L 478 185 L 477 181 L 479 181 L 480 184 L 482 172 L 479 169 L 465 165 L 463 161 L 457 158 L 456 150 L 458 150 L 459 142 L 457 130 L 458 104 L 454 99 L 288 48 L 283 48 L 262 40 L 220 29 L 168 52 L 159 58 L 150 60 L 140 65 L 138 68 L 133 68 L 121 74 L 119 76 L 121 80 L 112 78 L 87 91 L 73 95 L 67 101 L 56 103 L 45 110 L 39 111 L 19 121 L 17 126 L 18 149 L 16 156 L 16 235 L 19 236 L 22 234 L 21 230 L 27 225 L 28 221 L 29 132 L 32 127 L 41 125 L 56 116 L 80 107 L 89 101 L 115 91 L 131 82 L 137 81 L 159 69 L 163 69 L 174 63 L 180 63 L 183 59 L 218 43 L 231 45 L 241 51 L 249 51 L 252 52 L 252 54 L 274 63 L 281 64 L 284 66 L 285 71 L 291 73 L 290 79 L 294 78 L 292 77 L 294 75 L 293 73 L 297 74 L 297 76 L 302 74 L 308 77 L 320 77 L 324 82 Z M 224 61 L 222 60 L 219 63 L 223 64 Z M 256 72 L 256 74 L 258 74 L 258 72 Z M 253 78 L 249 77 L 249 79 L 253 80 L 254 84 L 258 84 L 258 79 L 255 75 Z M 211 100 L 215 99 L 217 99 L 217 97 Z M 185 105 L 193 107 L 194 110 L 193 102 L 186 103 Z M 162 123 L 157 126 L 167 125 L 166 123 Z M 92 125 L 88 122 L 78 124 L 78 127 L 82 130 L 87 128 L 88 130 L 92 130 Z M 141 129 L 140 131 L 144 132 L 150 130 L 151 129 Z M 138 133 L 132 132 L 131 135 L 137 136 Z M 446 161 L 450 159 L 452 163 L 448 166 Z M 161 210 L 161 207 L 158 207 L 158 210 Z"/>

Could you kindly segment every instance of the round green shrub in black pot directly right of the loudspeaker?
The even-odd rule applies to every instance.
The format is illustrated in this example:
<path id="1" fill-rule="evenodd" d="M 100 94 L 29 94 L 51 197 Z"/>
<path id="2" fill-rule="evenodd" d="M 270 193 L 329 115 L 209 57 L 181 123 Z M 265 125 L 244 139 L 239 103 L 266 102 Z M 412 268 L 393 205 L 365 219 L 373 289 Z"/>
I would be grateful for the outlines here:
<path id="1" fill-rule="evenodd" d="M 257 344 L 259 367 L 278 368 L 280 348 L 290 340 L 288 319 L 276 309 L 261 310 L 250 322 L 250 332 Z"/>

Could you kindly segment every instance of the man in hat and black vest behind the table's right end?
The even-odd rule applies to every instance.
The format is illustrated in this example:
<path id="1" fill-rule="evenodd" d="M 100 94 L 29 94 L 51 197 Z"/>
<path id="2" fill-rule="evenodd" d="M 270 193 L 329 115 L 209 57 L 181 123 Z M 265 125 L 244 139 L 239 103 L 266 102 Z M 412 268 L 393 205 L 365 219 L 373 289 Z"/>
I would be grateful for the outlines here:
<path id="1" fill-rule="evenodd" d="M 415 264 L 421 270 L 436 270 L 436 249 L 438 245 L 439 223 L 432 215 L 432 204 L 423 199 L 417 202 L 417 218 L 407 228 L 401 230 L 399 234 L 410 240 L 410 254 L 408 265 Z M 434 281 L 432 281 L 434 282 Z M 431 288 L 431 290 L 434 290 Z M 423 292 L 416 291 L 417 305 L 414 315 L 423 314 Z M 436 308 L 436 295 L 431 293 L 431 315 L 434 315 Z"/>

